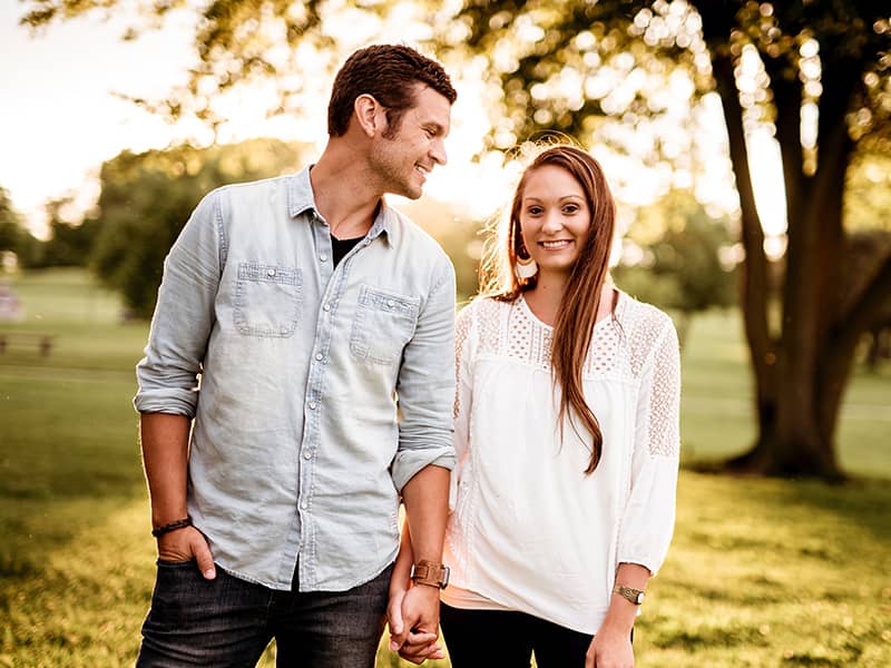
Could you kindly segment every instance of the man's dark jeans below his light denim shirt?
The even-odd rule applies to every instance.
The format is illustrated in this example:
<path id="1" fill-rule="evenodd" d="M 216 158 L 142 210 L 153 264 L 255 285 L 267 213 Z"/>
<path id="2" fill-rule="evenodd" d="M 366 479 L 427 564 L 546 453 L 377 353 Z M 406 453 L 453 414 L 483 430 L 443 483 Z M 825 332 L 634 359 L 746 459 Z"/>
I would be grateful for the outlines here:
<path id="1" fill-rule="evenodd" d="M 272 638 L 276 665 L 372 668 L 392 567 L 349 591 L 275 591 L 217 567 L 158 561 L 137 668 L 255 666 Z"/>

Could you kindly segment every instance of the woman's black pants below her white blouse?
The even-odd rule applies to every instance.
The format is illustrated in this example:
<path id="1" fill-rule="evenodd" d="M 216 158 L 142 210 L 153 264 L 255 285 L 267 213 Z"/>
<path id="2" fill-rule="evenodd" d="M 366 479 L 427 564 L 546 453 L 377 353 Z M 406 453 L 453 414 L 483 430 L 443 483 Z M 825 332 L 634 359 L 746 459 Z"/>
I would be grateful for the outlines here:
<path id="1" fill-rule="evenodd" d="M 538 668 L 584 668 L 594 638 L 525 612 L 442 603 L 439 617 L 452 668 L 529 668 L 532 651 Z"/>

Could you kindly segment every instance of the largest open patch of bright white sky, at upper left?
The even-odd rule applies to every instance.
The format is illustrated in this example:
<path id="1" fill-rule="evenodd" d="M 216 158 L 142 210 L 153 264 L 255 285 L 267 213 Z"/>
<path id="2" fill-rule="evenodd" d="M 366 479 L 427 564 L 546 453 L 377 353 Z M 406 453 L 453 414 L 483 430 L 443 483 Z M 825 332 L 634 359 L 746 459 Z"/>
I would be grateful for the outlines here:
<path id="1" fill-rule="evenodd" d="M 123 43 L 120 23 L 84 18 L 32 37 L 21 14 L 0 2 L 0 186 L 31 219 L 49 197 L 95 199 L 99 166 L 123 147 L 168 143 L 163 121 L 112 91 L 167 90 L 188 62 L 188 32 L 172 26 Z"/>

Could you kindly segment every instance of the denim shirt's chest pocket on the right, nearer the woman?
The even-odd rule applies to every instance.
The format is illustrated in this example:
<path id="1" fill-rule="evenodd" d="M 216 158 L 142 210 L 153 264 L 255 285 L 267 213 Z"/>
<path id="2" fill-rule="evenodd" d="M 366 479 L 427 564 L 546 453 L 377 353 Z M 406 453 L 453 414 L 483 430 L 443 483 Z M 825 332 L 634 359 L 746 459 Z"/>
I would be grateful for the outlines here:
<path id="1" fill-rule="evenodd" d="M 363 285 L 350 336 L 350 351 L 372 364 L 392 365 L 414 334 L 421 299 Z"/>

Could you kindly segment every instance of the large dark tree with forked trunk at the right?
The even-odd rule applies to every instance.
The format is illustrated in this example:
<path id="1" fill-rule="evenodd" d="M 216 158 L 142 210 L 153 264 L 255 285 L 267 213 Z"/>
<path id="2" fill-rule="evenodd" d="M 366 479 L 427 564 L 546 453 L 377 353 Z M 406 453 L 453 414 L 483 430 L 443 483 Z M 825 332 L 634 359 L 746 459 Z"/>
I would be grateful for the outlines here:
<path id="1" fill-rule="evenodd" d="M 842 212 L 848 166 L 858 143 L 883 143 L 889 130 L 889 100 L 881 88 L 875 89 L 888 81 L 891 69 L 888 57 L 881 56 L 891 46 L 888 21 L 878 3 L 864 1 L 790 3 L 791 8 L 777 8 L 779 16 L 765 20 L 758 20 L 748 4 L 737 12 L 726 2 L 701 4 L 743 210 L 743 305 L 757 394 L 758 441 L 735 463 L 768 473 L 833 478 L 839 474 L 834 436 L 854 351 L 880 316 L 883 295 L 891 289 L 891 256 L 885 255 L 878 265 L 864 268 L 868 279 L 855 295 L 844 299 L 838 291 L 848 269 L 839 252 L 845 239 Z M 768 325 L 767 263 L 745 178 L 734 40 L 726 37 L 738 31 L 737 19 L 748 21 L 747 32 L 771 79 L 783 156 L 789 240 L 777 334 Z M 814 42 L 821 58 L 819 102 L 809 86 L 813 79 L 807 80 L 802 69 L 809 53 L 805 45 Z M 813 147 L 801 141 L 805 102 L 819 104 L 819 145 Z M 858 122 L 868 117 L 869 122 Z"/>

